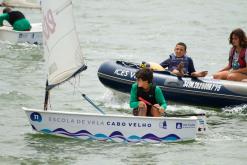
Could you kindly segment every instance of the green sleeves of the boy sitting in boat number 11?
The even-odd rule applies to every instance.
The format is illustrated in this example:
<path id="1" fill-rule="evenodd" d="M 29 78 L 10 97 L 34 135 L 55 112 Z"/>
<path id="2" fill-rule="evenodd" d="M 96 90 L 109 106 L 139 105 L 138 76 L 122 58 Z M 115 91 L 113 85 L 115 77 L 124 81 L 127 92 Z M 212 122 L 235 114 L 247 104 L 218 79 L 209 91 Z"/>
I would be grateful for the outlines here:
<path id="1" fill-rule="evenodd" d="M 137 108 L 139 106 L 139 101 L 137 99 L 137 83 L 134 83 L 131 88 L 130 92 L 130 108 Z M 155 99 L 157 103 L 163 108 L 166 109 L 167 104 L 165 101 L 165 98 L 163 96 L 163 93 L 160 89 L 160 87 L 156 86 L 155 88 Z"/>

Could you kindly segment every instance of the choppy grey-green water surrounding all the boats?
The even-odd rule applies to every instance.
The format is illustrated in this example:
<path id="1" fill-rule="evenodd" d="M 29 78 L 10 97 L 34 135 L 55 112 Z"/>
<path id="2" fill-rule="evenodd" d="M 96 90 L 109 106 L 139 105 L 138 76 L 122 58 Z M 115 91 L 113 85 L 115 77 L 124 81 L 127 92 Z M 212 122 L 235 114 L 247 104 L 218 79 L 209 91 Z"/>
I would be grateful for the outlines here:
<path id="1" fill-rule="evenodd" d="M 160 62 L 183 41 L 197 70 L 210 74 L 227 62 L 229 33 L 247 31 L 245 0 L 76 0 L 74 15 L 88 70 L 75 81 L 107 113 L 129 113 L 128 97 L 97 78 L 107 60 Z M 39 12 L 24 10 L 33 21 Z M 209 132 L 195 142 L 119 144 L 40 135 L 21 109 L 42 108 L 41 47 L 0 42 L 0 164 L 238 164 L 247 162 L 246 105 L 212 109 L 171 102 L 169 109 L 206 112 Z M 212 103 L 213 104 L 213 103 Z M 94 112 L 70 83 L 54 89 L 52 109 Z"/>

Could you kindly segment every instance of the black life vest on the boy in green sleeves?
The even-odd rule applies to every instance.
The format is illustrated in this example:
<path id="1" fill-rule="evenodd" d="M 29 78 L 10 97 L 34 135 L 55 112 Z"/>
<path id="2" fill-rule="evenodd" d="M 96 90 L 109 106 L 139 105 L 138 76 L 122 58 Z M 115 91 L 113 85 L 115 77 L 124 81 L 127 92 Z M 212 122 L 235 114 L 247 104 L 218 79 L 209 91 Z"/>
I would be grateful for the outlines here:
<path id="1" fill-rule="evenodd" d="M 150 102 L 152 105 L 157 104 L 156 99 L 155 99 L 155 89 L 156 89 L 156 86 L 155 85 L 151 85 L 149 91 L 145 92 L 143 90 L 143 88 L 138 87 L 137 88 L 137 98 L 141 97 L 144 100 Z M 150 110 L 151 106 L 147 105 L 147 109 Z"/>

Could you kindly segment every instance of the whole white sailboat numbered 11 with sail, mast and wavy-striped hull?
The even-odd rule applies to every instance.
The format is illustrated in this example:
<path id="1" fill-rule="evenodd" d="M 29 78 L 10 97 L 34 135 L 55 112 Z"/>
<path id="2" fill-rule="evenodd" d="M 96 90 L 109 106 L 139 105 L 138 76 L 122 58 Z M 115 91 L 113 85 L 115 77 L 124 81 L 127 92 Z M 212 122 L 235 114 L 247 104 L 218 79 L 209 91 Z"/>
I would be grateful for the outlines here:
<path id="1" fill-rule="evenodd" d="M 48 77 L 44 110 L 23 108 L 33 130 L 65 137 L 116 142 L 194 140 L 206 128 L 205 116 L 136 117 L 47 110 L 49 91 L 84 71 L 71 0 L 42 1 L 44 53 Z M 66 26 L 65 26 L 66 25 Z"/>

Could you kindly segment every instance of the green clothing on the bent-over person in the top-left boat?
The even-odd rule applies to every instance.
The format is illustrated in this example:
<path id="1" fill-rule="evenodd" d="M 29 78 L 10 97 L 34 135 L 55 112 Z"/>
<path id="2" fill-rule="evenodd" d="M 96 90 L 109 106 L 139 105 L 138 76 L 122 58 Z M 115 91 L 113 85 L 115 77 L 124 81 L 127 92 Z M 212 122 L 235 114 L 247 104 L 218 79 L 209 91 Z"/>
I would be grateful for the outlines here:
<path id="1" fill-rule="evenodd" d="M 9 14 L 8 13 L 0 14 L 0 26 L 3 26 L 4 20 L 9 21 Z M 27 19 L 22 18 L 22 19 L 19 19 L 19 20 L 14 22 L 13 29 L 17 30 L 17 31 L 30 30 L 31 24 Z"/>

